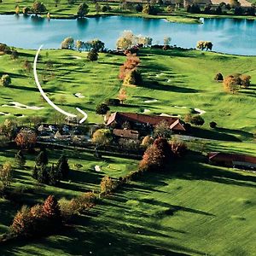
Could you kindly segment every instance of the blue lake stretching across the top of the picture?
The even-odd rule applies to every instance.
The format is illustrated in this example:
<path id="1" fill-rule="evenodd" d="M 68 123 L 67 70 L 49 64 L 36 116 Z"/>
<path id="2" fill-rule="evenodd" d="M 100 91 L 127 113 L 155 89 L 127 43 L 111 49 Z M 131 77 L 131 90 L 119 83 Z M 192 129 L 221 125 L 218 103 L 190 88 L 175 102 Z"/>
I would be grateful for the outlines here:
<path id="1" fill-rule="evenodd" d="M 87 41 L 99 38 L 109 49 L 124 30 L 163 44 L 194 48 L 199 40 L 212 41 L 213 50 L 236 55 L 256 55 L 256 20 L 205 19 L 203 24 L 171 23 L 159 19 L 108 16 L 82 20 L 47 20 L 23 15 L 0 15 L 0 42 L 25 49 L 59 48 L 67 37 Z"/>

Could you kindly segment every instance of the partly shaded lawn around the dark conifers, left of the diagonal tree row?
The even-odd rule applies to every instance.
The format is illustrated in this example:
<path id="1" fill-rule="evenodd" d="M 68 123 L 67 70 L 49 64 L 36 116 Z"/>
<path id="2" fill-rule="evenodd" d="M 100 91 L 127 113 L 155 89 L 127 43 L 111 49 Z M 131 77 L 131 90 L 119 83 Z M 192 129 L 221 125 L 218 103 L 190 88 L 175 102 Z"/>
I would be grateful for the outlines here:
<path id="1" fill-rule="evenodd" d="M 32 168 L 35 165 L 35 159 L 38 154 L 26 154 L 26 166 L 20 169 L 15 163 L 15 154 L 17 150 L 12 148 L 0 149 L 0 162 L 9 161 L 14 167 L 14 180 L 12 190 L 15 191 L 17 200 L 15 202 L 0 200 L 0 234 L 8 230 L 9 224 L 15 216 L 15 212 L 20 209 L 22 204 L 34 205 L 43 202 L 48 195 L 55 195 L 58 199 L 65 197 L 72 199 L 84 192 L 100 190 L 102 177 L 105 175 L 118 178 L 128 172 L 137 169 L 136 160 L 119 159 L 115 157 L 103 156 L 101 160 L 96 159 L 92 154 L 80 150 L 48 150 L 49 166 L 55 164 L 64 154 L 68 158 L 70 174 L 67 181 L 62 181 L 60 186 L 39 185 L 32 178 Z M 79 169 L 75 164 L 82 165 Z M 100 166 L 101 172 L 96 172 L 94 167 Z M 22 193 L 24 191 L 24 193 Z"/>

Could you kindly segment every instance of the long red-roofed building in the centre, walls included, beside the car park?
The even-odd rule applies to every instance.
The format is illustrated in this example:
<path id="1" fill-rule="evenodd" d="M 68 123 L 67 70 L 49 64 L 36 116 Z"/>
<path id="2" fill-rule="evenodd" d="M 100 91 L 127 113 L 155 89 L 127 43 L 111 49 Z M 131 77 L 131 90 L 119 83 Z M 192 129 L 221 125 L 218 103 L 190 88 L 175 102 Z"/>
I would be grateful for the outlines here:
<path id="1" fill-rule="evenodd" d="M 155 125 L 165 121 L 172 131 L 183 132 L 186 131 L 184 123 L 181 119 L 175 117 L 148 115 L 142 113 L 124 113 L 115 112 L 108 118 L 107 125 L 114 125 L 117 128 L 122 127 L 125 123 L 129 123 L 132 129 L 148 128 L 152 129 Z"/>

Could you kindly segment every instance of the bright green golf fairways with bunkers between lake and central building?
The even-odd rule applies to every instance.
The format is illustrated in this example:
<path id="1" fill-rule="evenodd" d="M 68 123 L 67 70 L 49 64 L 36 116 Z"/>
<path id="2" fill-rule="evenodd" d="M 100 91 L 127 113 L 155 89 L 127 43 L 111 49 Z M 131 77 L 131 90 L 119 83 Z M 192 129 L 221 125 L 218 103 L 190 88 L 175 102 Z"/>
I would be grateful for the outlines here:
<path id="1" fill-rule="evenodd" d="M 10 60 L 9 55 L 0 57 L 1 73 L 9 73 L 13 81 L 9 88 L 1 88 L 0 96 L 0 112 L 11 115 L 2 115 L 0 119 L 12 117 L 15 113 L 55 119 L 55 112 L 38 92 L 32 72 L 24 72 L 22 67 L 25 60 L 33 61 L 35 51 L 19 49 L 19 52 L 17 61 Z M 100 54 L 98 61 L 90 62 L 86 61 L 86 55 L 74 50 L 43 50 L 38 63 L 39 80 L 49 98 L 61 108 L 77 113 L 75 108 L 79 107 L 89 114 L 89 122 L 102 122 L 102 116 L 95 113 L 96 105 L 118 96 L 122 86 L 118 79 L 119 67 L 125 57 Z M 256 110 L 253 108 L 256 103 L 255 57 L 156 49 L 142 49 L 139 56 L 143 83 L 135 87 L 126 86 L 127 101 L 123 106 L 111 107 L 112 112 L 167 113 L 183 118 L 189 113 L 189 108 L 199 108 L 206 112 L 202 114 L 206 121 L 202 126 L 204 130 L 209 131 L 209 122 L 215 121 L 218 124 L 216 134 L 253 140 L 256 131 Z M 49 71 L 45 71 L 47 61 L 53 63 Z M 252 83 L 247 90 L 228 94 L 224 92 L 222 83 L 214 81 L 216 73 L 224 76 L 248 74 L 252 76 Z M 78 92 L 84 98 L 74 96 Z M 13 101 L 44 109 L 1 107 Z"/>

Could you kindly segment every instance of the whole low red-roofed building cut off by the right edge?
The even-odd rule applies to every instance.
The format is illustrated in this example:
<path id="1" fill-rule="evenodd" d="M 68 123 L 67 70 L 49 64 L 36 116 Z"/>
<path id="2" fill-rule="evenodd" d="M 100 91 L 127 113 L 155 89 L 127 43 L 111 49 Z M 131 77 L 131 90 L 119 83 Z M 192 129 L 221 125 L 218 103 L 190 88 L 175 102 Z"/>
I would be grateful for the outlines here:
<path id="1" fill-rule="evenodd" d="M 219 166 L 229 166 L 233 168 L 255 170 L 256 157 L 245 154 L 228 154 L 222 152 L 208 153 L 208 160 L 211 164 Z"/>

